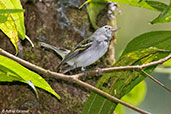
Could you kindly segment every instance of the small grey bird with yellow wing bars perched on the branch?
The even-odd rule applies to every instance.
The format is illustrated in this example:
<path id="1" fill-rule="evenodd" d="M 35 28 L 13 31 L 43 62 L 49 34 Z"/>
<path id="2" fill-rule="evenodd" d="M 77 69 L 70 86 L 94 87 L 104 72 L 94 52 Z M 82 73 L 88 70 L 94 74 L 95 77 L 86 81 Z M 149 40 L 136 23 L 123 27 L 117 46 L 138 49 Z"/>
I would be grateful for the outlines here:
<path id="1" fill-rule="evenodd" d="M 118 28 L 109 25 L 97 29 L 64 57 L 57 70 L 67 63 L 69 67 L 65 68 L 64 73 L 79 67 L 84 71 L 86 66 L 93 64 L 107 52 L 112 35 L 117 30 Z"/>

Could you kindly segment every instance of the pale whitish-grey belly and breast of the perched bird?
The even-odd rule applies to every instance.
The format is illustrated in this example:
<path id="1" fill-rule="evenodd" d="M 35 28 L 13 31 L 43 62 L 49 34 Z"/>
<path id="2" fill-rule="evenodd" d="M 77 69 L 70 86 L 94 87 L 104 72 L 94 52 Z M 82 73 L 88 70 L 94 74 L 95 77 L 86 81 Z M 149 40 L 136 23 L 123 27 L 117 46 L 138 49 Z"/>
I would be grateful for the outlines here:
<path id="1" fill-rule="evenodd" d="M 106 53 L 107 49 L 108 46 L 104 45 L 104 43 L 91 47 L 75 59 L 75 65 L 77 67 L 89 66 L 101 58 Z"/>

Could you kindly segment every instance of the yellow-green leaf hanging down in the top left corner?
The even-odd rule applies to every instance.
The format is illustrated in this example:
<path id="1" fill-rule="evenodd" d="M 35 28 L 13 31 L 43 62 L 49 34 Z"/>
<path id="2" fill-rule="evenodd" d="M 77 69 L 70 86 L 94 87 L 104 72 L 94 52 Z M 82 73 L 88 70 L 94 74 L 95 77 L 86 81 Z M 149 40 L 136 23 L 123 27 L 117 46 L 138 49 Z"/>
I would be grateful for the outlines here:
<path id="1" fill-rule="evenodd" d="M 0 0 L 0 9 L 0 29 L 10 38 L 17 52 L 18 35 L 21 39 L 25 38 L 24 15 L 20 0 Z"/>

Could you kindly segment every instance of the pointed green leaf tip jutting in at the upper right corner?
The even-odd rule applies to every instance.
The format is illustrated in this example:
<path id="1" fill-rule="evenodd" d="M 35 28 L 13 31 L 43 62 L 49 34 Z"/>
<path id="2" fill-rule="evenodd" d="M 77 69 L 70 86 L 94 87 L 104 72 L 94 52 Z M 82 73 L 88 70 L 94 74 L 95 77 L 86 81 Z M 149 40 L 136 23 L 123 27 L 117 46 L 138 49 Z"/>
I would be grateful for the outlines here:
<path id="1" fill-rule="evenodd" d="M 165 8 L 163 12 L 161 12 L 161 14 L 151 22 L 151 24 L 165 22 L 171 22 L 171 2 L 170 5 Z"/>

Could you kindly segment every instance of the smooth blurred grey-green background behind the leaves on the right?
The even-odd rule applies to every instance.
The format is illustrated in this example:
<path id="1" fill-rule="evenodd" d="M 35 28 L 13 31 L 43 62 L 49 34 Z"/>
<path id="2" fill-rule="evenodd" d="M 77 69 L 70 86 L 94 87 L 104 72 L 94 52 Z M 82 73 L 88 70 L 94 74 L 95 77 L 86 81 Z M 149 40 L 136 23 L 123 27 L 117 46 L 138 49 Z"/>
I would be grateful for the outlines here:
<path id="1" fill-rule="evenodd" d="M 169 4 L 169 0 L 160 1 Z M 116 59 L 118 59 L 128 42 L 136 36 L 151 31 L 171 30 L 171 23 L 150 24 L 150 21 L 156 18 L 160 12 L 124 4 L 120 4 L 120 10 L 122 13 L 118 15 L 117 23 L 121 29 L 117 33 Z M 151 75 L 171 88 L 169 74 L 154 71 Z M 171 94 L 152 80 L 146 78 L 145 81 L 147 83 L 147 94 L 144 101 L 138 107 L 152 114 L 170 114 Z M 125 109 L 125 114 L 138 114 L 130 109 Z"/>

